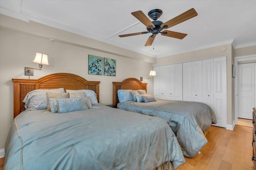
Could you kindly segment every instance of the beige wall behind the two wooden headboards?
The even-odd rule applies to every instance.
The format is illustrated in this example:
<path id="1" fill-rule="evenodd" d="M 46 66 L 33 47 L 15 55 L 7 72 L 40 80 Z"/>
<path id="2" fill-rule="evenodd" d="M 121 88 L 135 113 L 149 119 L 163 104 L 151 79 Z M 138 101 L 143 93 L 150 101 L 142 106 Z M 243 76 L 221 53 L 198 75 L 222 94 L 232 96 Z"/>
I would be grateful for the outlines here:
<path id="1" fill-rule="evenodd" d="M 53 42 L 49 39 L 55 39 Z M 13 121 L 12 78 L 24 76 L 24 67 L 38 68 L 32 63 L 36 52 L 49 55 L 50 66 L 34 70 L 32 79 L 56 72 L 69 72 L 87 80 L 100 81 L 100 103 L 112 104 L 112 81 L 128 77 L 149 77 L 155 58 L 108 45 L 100 41 L 68 33 L 35 22 L 24 22 L 0 15 L 0 149 Z M 116 59 L 116 76 L 88 74 L 88 55 Z M 148 82 L 148 93 L 153 94 L 153 80 Z"/>

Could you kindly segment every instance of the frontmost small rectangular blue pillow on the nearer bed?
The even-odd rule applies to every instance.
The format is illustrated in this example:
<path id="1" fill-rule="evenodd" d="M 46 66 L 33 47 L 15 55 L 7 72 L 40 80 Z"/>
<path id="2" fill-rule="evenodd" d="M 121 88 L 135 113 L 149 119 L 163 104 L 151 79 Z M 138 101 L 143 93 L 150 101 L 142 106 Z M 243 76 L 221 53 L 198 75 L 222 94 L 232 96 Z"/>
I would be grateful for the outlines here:
<path id="1" fill-rule="evenodd" d="M 86 98 L 50 99 L 50 107 L 53 113 L 66 113 L 88 109 L 86 106 Z"/>

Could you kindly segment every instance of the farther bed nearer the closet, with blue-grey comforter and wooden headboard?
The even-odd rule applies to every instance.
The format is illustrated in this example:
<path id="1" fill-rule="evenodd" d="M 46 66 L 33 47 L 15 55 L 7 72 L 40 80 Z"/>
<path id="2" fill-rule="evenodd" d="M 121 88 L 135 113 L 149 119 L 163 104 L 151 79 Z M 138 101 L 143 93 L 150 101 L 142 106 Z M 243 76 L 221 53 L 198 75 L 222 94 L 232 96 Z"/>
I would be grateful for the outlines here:
<path id="1" fill-rule="evenodd" d="M 212 123 L 216 123 L 216 116 L 208 105 L 199 102 L 173 100 L 156 99 L 154 101 L 154 96 L 154 102 L 135 102 L 135 99 L 132 98 L 134 94 L 127 98 L 126 95 L 129 95 L 131 90 L 146 91 L 147 83 L 142 83 L 136 78 L 127 78 L 122 82 L 112 82 L 112 84 L 113 105 L 117 106 L 118 109 L 166 120 L 174 131 L 184 156 L 194 157 L 206 145 L 207 129 Z M 122 92 L 122 95 L 120 95 L 122 99 L 118 99 L 118 92 Z M 136 97 L 138 96 L 143 95 L 137 95 Z M 119 100 L 122 100 L 122 102 L 119 102 Z"/>

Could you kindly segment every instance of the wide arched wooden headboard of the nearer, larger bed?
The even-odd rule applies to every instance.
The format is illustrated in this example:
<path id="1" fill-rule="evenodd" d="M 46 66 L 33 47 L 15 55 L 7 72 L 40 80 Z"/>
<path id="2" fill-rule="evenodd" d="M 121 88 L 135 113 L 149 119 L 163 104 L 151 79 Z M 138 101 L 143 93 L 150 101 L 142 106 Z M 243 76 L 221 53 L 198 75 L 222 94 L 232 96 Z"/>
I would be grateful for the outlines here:
<path id="1" fill-rule="evenodd" d="M 64 88 L 69 90 L 89 89 L 97 94 L 99 102 L 99 81 L 87 81 L 84 78 L 70 73 L 55 73 L 33 79 L 12 78 L 14 88 L 14 117 L 25 110 L 22 102 L 28 92 L 36 89 Z"/>

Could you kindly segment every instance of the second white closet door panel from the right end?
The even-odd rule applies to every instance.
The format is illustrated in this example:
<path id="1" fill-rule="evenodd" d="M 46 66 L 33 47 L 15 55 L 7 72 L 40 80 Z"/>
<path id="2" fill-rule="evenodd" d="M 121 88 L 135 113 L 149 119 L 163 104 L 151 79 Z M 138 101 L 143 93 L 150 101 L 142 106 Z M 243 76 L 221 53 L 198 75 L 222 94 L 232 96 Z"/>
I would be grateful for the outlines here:
<path id="1" fill-rule="evenodd" d="M 202 61 L 202 98 L 203 103 L 208 104 L 214 110 L 214 59 Z"/>

